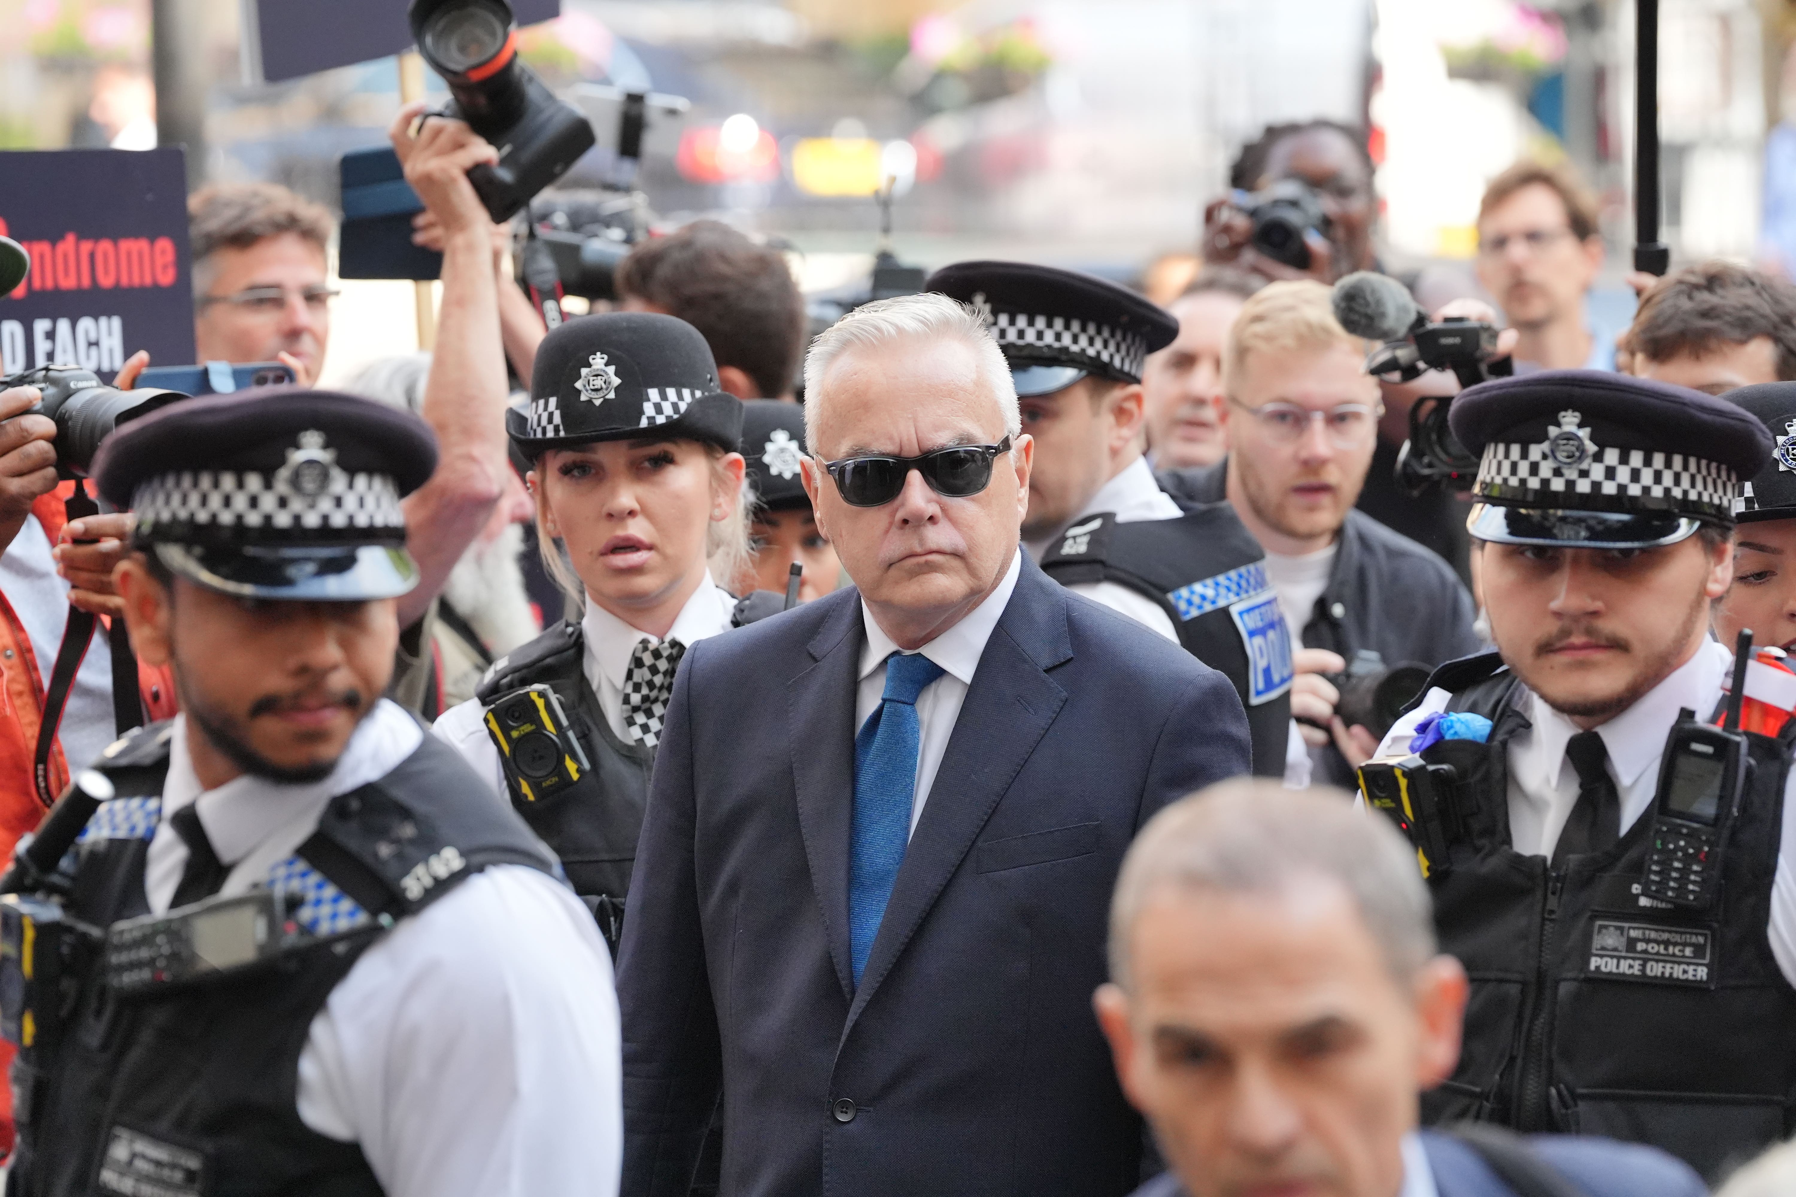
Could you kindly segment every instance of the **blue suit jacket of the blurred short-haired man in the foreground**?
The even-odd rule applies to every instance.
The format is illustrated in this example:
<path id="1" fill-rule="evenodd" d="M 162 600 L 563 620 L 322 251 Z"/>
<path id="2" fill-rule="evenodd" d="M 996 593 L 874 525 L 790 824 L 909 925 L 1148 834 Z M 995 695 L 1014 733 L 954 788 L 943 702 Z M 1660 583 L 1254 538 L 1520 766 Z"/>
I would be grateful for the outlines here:
<path id="1" fill-rule="evenodd" d="M 1703 1177 L 1690 1165 L 1656 1147 L 1575 1134 L 1536 1134 L 1527 1143 L 1554 1172 L 1589 1197 L 1708 1193 Z M 1498 1179 L 1491 1165 L 1457 1138 L 1422 1131 L 1422 1150 L 1428 1152 L 1440 1197 L 1514 1197 L 1514 1190 Z M 1135 1197 L 1185 1197 L 1185 1190 L 1176 1177 L 1166 1174 L 1142 1184 Z"/>

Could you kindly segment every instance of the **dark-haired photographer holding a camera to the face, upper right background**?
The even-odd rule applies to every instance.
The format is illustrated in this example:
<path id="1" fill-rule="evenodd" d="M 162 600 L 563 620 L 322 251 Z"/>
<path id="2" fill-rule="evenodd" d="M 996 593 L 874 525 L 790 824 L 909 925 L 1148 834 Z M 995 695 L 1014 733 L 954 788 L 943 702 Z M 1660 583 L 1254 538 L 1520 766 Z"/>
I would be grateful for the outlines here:
<path id="1" fill-rule="evenodd" d="M 1243 147 L 1228 183 L 1237 194 L 1254 192 L 1255 197 L 1279 183 L 1297 185 L 1290 190 L 1307 197 L 1322 217 L 1322 228 L 1304 232 L 1309 266 L 1291 266 L 1255 248 L 1254 215 L 1237 196 L 1216 199 L 1205 208 L 1203 260 L 1268 280 L 1313 278 L 1324 284 L 1352 271 L 1378 269 L 1372 170 L 1365 136 L 1356 129 L 1333 120 L 1268 126 L 1257 142 Z"/>

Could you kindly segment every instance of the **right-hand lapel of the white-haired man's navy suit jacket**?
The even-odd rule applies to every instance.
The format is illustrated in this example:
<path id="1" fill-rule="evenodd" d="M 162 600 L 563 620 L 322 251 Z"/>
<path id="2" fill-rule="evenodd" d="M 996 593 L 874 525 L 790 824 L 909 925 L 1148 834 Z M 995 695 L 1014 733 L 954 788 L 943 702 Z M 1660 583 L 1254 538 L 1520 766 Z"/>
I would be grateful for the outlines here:
<path id="1" fill-rule="evenodd" d="M 979 657 L 923 817 L 898 867 L 891 903 L 842 1027 L 844 1039 L 1065 705 L 1067 693 L 1045 669 L 1070 657 L 1065 592 L 1026 556 L 1011 601 Z M 846 824 L 842 843 L 848 843 Z M 842 910 L 846 901 L 844 894 Z M 842 942 L 848 942 L 846 931 Z"/>

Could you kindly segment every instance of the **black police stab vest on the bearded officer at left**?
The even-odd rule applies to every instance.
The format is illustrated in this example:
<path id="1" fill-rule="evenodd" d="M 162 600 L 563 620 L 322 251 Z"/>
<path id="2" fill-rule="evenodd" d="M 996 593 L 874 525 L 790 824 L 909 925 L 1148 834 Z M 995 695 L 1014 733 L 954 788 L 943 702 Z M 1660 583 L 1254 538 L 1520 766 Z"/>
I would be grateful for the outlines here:
<path id="1" fill-rule="evenodd" d="M 167 772 L 167 725 L 99 766 L 119 797 L 77 843 L 70 913 L 92 926 L 147 913 L 144 861 Z M 269 885 L 321 937 L 275 962 L 165 991 L 115 994 L 101 962 L 74 996 L 61 1055 L 14 1073 L 20 1150 L 9 1197 L 374 1197 L 356 1143 L 296 1113 L 313 1018 L 361 953 L 490 865 L 553 872 L 462 757 L 426 736 L 393 772 L 334 797 Z"/>

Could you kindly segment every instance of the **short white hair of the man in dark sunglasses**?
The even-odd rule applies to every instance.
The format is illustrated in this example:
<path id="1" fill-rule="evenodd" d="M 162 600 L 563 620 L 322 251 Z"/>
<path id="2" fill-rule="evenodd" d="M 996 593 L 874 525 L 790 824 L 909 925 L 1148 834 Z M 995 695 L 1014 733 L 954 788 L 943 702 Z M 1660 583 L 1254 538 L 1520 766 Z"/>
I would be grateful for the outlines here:
<path id="1" fill-rule="evenodd" d="M 857 307 L 810 343 L 810 355 L 805 357 L 805 443 L 810 445 L 812 452 L 821 452 L 817 424 L 824 398 L 823 380 L 830 375 L 830 366 L 844 354 L 907 339 L 955 339 L 972 348 L 979 373 L 1004 416 L 1004 432 L 1011 440 L 1022 436 L 1017 384 L 1011 380 L 1009 364 L 991 337 L 991 330 L 964 303 L 955 303 L 945 294 L 925 293 Z"/>

